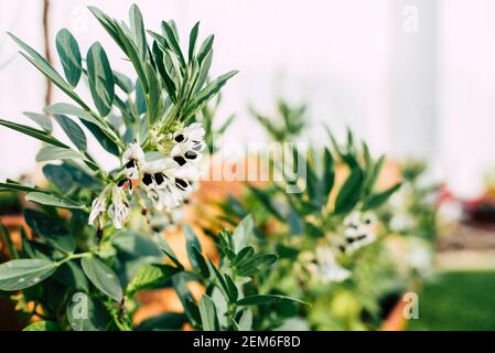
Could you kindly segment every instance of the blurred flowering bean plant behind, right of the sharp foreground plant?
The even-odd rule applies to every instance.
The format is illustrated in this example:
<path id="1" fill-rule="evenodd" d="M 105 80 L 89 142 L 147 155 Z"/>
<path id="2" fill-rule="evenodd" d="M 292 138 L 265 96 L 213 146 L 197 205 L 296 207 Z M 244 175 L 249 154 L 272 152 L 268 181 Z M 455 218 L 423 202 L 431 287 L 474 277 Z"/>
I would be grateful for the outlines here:
<path id="1" fill-rule="evenodd" d="M 292 141 L 304 129 L 304 108 L 280 101 L 286 118 L 256 118 L 275 141 Z M 297 117 L 297 128 L 290 117 Z M 374 159 L 351 130 L 345 145 L 329 131 L 329 145 L 323 151 L 310 148 L 308 159 L 294 157 L 294 165 L 302 162 L 306 168 L 302 192 L 288 193 L 289 186 L 301 183 L 284 175 L 282 183 L 248 185 L 249 193 L 229 195 L 220 204 L 227 222 L 252 213 L 258 246 L 279 254 L 280 264 L 265 274 L 267 288 L 312 303 L 300 310 L 284 308 L 260 328 L 377 329 L 408 286 L 409 278 L 396 270 L 386 246 L 389 220 L 381 216 L 400 181 L 384 181 L 385 157 Z"/>

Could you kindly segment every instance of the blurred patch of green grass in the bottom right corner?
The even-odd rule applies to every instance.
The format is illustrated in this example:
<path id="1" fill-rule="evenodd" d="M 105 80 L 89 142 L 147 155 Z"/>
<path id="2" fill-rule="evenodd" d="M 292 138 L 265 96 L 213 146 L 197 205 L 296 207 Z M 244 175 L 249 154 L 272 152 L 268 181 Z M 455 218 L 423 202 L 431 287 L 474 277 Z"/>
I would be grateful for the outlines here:
<path id="1" fill-rule="evenodd" d="M 495 330 L 495 271 L 444 272 L 419 295 L 408 330 Z"/>

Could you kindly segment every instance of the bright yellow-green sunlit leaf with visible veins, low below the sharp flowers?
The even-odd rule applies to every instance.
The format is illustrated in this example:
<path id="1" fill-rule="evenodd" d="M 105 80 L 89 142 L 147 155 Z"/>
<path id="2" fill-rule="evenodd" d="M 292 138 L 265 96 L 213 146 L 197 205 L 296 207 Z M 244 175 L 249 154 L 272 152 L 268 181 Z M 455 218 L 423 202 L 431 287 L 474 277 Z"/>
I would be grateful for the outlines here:
<path id="1" fill-rule="evenodd" d="M 132 296 L 138 290 L 161 288 L 180 271 L 179 268 L 170 265 L 147 265 L 129 282 L 127 293 Z"/>

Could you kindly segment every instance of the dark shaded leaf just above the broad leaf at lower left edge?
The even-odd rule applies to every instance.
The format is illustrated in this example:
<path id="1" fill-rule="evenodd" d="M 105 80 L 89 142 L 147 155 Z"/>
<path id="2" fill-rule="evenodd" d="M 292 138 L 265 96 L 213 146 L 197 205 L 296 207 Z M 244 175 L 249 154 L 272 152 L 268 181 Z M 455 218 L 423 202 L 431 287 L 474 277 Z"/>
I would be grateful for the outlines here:
<path id="1" fill-rule="evenodd" d="M 24 210 L 24 220 L 34 233 L 57 249 L 72 253 L 76 248 L 76 242 L 62 220 L 32 208 Z"/>

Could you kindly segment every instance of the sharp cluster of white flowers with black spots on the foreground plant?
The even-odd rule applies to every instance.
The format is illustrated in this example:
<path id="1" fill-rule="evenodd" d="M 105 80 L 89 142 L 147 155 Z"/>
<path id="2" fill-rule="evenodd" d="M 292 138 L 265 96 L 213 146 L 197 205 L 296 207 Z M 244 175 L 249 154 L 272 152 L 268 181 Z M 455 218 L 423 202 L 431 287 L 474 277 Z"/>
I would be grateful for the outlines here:
<path id="1" fill-rule="evenodd" d="M 130 143 L 123 152 L 126 170 L 117 183 L 107 185 L 93 201 L 89 224 L 101 229 L 106 215 L 117 229 L 130 218 L 130 202 L 134 186 L 143 191 L 158 212 L 172 212 L 191 195 L 200 178 L 197 162 L 205 147 L 205 130 L 194 122 L 174 133 L 161 135 L 151 140 L 152 149 L 161 157 L 147 161 L 146 153 L 137 142 Z"/>

